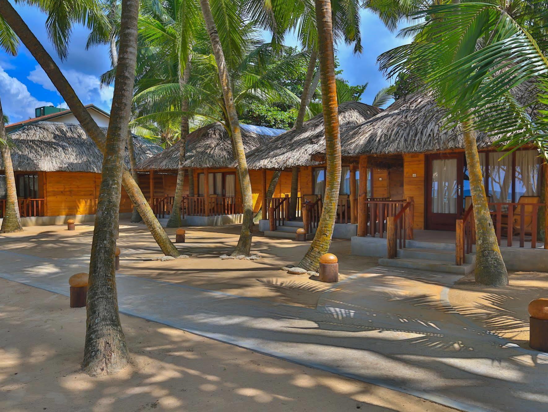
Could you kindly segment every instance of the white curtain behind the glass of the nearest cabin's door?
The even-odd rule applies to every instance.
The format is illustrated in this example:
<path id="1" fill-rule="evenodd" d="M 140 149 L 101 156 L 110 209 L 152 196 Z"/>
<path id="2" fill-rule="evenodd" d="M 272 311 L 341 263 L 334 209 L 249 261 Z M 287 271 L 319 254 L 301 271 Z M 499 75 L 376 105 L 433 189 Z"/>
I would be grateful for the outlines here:
<path id="1" fill-rule="evenodd" d="M 432 212 L 456 213 L 456 159 L 432 160 Z"/>

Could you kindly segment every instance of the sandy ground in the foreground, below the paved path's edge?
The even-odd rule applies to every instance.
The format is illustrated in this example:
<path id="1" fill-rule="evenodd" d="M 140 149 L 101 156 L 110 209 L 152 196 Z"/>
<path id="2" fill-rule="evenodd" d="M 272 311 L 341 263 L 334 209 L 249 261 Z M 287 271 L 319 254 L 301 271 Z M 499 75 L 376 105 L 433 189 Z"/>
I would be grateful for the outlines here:
<path id="1" fill-rule="evenodd" d="M 423 399 L 121 315 L 129 368 L 79 372 L 85 308 L 0 279 L 0 410 L 448 412 Z"/>

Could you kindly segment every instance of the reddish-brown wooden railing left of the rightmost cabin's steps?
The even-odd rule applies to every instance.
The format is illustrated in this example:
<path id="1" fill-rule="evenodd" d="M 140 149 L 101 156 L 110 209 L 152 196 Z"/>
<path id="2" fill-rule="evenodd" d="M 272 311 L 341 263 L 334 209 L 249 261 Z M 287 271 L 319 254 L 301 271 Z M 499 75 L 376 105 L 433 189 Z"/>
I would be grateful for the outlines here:
<path id="1" fill-rule="evenodd" d="M 387 229 L 387 218 L 395 217 L 406 204 L 410 204 L 410 212 L 407 220 L 410 221 L 410 229 L 408 230 L 408 239 L 413 236 L 413 199 L 408 200 L 367 200 L 366 201 L 366 222 L 368 224 L 367 234 L 373 238 L 378 235 L 379 238 L 384 237 L 384 232 Z"/>

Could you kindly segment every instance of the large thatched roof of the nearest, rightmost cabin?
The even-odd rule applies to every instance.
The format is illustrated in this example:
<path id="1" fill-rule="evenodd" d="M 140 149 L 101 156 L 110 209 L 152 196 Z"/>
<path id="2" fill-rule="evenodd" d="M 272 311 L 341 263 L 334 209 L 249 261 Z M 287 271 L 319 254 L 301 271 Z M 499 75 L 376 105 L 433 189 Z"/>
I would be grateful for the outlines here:
<path id="1" fill-rule="evenodd" d="M 535 116 L 538 105 L 534 84 L 522 83 L 512 89 L 512 94 L 521 104 L 528 106 Z M 464 149 L 462 128 L 452 129 L 446 125 L 446 111 L 441 108 L 431 93 L 419 92 L 398 99 L 386 110 L 361 125 L 341 133 L 343 156 L 385 153 L 426 153 L 450 149 Z M 477 133 L 478 148 L 488 148 L 499 139 Z M 318 153 L 325 153 L 323 152 Z"/>

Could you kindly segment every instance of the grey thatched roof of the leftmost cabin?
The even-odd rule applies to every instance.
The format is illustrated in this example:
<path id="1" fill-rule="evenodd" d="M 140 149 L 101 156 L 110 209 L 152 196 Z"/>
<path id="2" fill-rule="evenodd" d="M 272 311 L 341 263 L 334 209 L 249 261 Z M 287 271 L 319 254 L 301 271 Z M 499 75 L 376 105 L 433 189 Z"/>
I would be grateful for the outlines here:
<path id="1" fill-rule="evenodd" d="M 102 154 L 80 125 L 35 122 L 9 133 L 9 139 L 15 171 L 101 172 Z M 138 162 L 162 151 L 142 137 L 134 136 L 133 142 Z M 127 149 L 125 164 L 129 167 Z"/>

